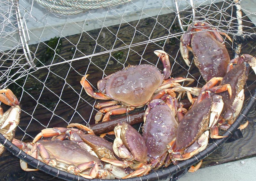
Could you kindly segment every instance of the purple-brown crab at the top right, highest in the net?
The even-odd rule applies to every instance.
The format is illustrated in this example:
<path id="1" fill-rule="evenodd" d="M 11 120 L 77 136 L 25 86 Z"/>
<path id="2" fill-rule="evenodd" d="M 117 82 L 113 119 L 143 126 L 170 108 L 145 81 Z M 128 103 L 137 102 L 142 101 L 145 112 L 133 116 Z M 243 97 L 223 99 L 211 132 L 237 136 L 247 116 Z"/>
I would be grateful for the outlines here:
<path id="1" fill-rule="evenodd" d="M 223 77 L 230 62 L 220 34 L 226 35 L 208 23 L 196 22 L 191 24 L 180 38 L 180 53 L 183 59 L 189 66 L 188 51 L 191 51 L 194 63 L 206 82 L 213 77 Z M 228 35 L 226 37 L 232 41 Z"/>

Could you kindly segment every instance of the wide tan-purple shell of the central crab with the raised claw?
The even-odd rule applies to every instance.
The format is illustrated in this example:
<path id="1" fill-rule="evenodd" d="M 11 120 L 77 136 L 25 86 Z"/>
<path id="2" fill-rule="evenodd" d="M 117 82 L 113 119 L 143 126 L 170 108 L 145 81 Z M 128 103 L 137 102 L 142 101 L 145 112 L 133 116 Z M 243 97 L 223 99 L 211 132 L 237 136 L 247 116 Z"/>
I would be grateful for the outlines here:
<path id="1" fill-rule="evenodd" d="M 164 76 L 155 66 L 141 64 L 101 79 L 98 82 L 98 89 L 124 105 L 141 107 L 148 103 L 163 80 Z"/>

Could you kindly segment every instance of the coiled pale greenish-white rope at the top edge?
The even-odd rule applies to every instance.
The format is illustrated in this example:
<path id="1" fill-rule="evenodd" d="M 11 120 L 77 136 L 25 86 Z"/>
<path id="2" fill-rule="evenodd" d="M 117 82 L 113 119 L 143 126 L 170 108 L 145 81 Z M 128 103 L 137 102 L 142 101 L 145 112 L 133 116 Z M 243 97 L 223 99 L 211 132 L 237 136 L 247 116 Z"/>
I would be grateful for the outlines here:
<path id="1" fill-rule="evenodd" d="M 92 9 L 104 9 L 132 0 L 35 0 L 48 11 L 61 15 L 75 15 Z"/>

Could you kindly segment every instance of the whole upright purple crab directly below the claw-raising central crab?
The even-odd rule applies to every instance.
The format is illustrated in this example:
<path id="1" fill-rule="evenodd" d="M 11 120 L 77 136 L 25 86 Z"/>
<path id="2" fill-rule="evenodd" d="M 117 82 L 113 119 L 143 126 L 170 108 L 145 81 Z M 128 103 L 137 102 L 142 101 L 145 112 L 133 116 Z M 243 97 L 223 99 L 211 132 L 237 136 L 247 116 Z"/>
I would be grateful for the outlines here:
<path id="1" fill-rule="evenodd" d="M 170 164 L 166 145 L 175 138 L 178 121 L 186 111 L 171 96 L 152 100 L 148 104 L 144 114 L 142 139 L 148 148 L 148 163 L 151 168 L 158 169 Z"/>

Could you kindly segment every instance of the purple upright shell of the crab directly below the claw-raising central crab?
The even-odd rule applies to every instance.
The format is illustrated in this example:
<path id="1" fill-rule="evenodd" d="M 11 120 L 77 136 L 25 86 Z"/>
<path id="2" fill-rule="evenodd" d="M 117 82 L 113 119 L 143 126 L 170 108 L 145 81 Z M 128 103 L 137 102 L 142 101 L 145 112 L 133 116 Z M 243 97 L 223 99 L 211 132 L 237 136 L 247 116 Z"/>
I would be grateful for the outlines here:
<path id="1" fill-rule="evenodd" d="M 175 102 L 176 99 L 172 99 Z M 177 110 L 177 106 L 173 109 Z M 148 148 L 150 160 L 167 153 L 166 145 L 176 136 L 177 127 L 173 110 L 162 99 L 155 99 L 148 104 L 144 114 L 142 138 Z"/>

